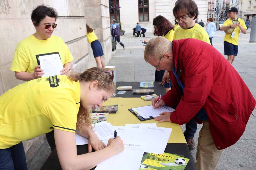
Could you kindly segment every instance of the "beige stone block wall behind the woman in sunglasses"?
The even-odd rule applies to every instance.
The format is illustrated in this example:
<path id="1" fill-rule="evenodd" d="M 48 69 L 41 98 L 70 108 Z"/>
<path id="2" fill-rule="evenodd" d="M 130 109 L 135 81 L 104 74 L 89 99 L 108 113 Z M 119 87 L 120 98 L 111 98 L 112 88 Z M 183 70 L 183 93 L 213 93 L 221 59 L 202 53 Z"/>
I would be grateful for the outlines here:
<path id="1" fill-rule="evenodd" d="M 108 1 L 84 0 L 2 0 L 0 2 L 0 28 L 2 31 L 0 46 L 0 95 L 10 88 L 23 83 L 17 80 L 10 65 L 17 44 L 35 33 L 31 22 L 31 11 L 38 5 L 45 4 L 55 8 L 58 12 L 57 28 L 53 35 L 60 36 L 67 44 L 74 57 L 72 69 L 82 72 L 87 68 L 95 67 L 96 62 L 92 55 L 90 44 L 86 35 L 86 18 L 95 29 L 95 33 L 102 43 L 106 63 L 112 57 Z M 87 11 L 91 4 L 97 6 L 95 11 Z M 95 15 L 97 14 L 97 15 Z M 90 16 L 93 15 L 92 22 Z M 23 141 L 27 154 L 27 161 L 32 158 L 35 151 L 45 141 L 45 135 Z"/>

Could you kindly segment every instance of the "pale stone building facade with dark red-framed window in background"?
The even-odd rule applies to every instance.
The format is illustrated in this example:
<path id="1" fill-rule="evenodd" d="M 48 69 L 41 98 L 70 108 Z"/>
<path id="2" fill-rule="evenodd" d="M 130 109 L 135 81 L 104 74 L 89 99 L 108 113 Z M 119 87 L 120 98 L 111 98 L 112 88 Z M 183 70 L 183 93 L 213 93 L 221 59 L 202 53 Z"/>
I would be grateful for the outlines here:
<path id="1" fill-rule="evenodd" d="M 131 33 L 133 32 L 132 29 L 136 26 L 136 22 L 139 22 L 142 28 L 146 28 L 147 32 L 153 32 L 153 19 L 158 15 L 164 16 L 174 24 L 173 8 L 176 1 L 177 0 L 112 0 L 111 2 L 114 2 L 113 6 L 118 4 L 120 7 L 118 12 L 122 29 Z M 203 22 L 206 23 L 208 0 L 195 0 L 195 2 L 199 10 L 199 21 L 202 19 Z M 142 10 L 141 8 L 144 9 Z M 142 17 L 143 15 L 144 18 Z"/>

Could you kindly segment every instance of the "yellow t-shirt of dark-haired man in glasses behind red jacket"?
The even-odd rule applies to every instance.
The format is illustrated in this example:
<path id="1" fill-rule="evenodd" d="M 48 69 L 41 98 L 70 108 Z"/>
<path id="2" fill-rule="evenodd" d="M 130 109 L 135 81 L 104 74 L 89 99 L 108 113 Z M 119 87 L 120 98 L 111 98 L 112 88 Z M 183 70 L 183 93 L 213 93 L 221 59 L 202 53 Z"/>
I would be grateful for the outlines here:
<path id="1" fill-rule="evenodd" d="M 177 30 L 174 32 L 173 39 L 180 40 L 184 38 L 195 38 L 211 44 L 208 33 L 199 24 L 195 24 L 193 28 L 186 30 L 182 29 L 181 27 L 177 28 Z"/>

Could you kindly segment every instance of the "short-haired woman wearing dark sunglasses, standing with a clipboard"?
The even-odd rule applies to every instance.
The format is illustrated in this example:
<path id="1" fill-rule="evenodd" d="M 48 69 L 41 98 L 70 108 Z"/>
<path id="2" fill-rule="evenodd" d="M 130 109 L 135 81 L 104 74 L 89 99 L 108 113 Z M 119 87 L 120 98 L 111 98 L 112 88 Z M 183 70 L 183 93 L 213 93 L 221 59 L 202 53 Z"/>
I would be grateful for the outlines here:
<path id="1" fill-rule="evenodd" d="M 36 32 L 19 42 L 10 68 L 15 72 L 17 79 L 29 81 L 41 77 L 44 70 L 40 69 L 37 56 L 52 53 L 57 53 L 60 56 L 63 65 L 60 74 L 68 74 L 73 56 L 63 40 L 52 35 L 57 27 L 57 15 L 58 13 L 54 8 L 44 5 L 37 6 L 32 11 L 31 20 Z"/>

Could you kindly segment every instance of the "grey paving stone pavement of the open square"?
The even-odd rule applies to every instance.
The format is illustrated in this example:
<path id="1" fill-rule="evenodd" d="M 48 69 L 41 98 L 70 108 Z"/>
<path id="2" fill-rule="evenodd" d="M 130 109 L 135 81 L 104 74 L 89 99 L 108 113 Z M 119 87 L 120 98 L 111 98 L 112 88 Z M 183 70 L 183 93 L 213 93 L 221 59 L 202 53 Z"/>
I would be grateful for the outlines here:
<path id="1" fill-rule="evenodd" d="M 145 38 L 133 37 L 132 34 L 121 36 L 121 41 L 125 45 L 125 50 L 120 44 L 108 66 L 116 66 L 116 81 L 140 82 L 154 81 L 155 68 L 146 63 L 143 58 L 144 46 L 140 40 L 150 39 L 154 35 L 145 33 Z M 240 33 L 238 56 L 233 62 L 233 67 L 237 70 L 248 88 L 256 99 L 256 43 L 249 43 L 250 29 L 246 35 Z M 224 55 L 223 48 L 224 32 L 217 31 L 212 39 L 213 46 Z M 227 58 L 225 56 L 225 58 Z M 202 125 L 198 125 L 194 140 L 196 142 L 199 130 Z M 185 131 L 185 125 L 182 125 Z M 237 143 L 225 149 L 221 155 L 217 170 L 252 170 L 256 169 L 256 110 L 250 116 L 245 132 Z M 28 163 L 28 169 L 40 169 L 50 154 L 47 141 L 40 147 L 37 155 Z M 191 150 L 196 162 L 196 149 Z M 192 161 L 192 160 L 191 160 Z"/>

